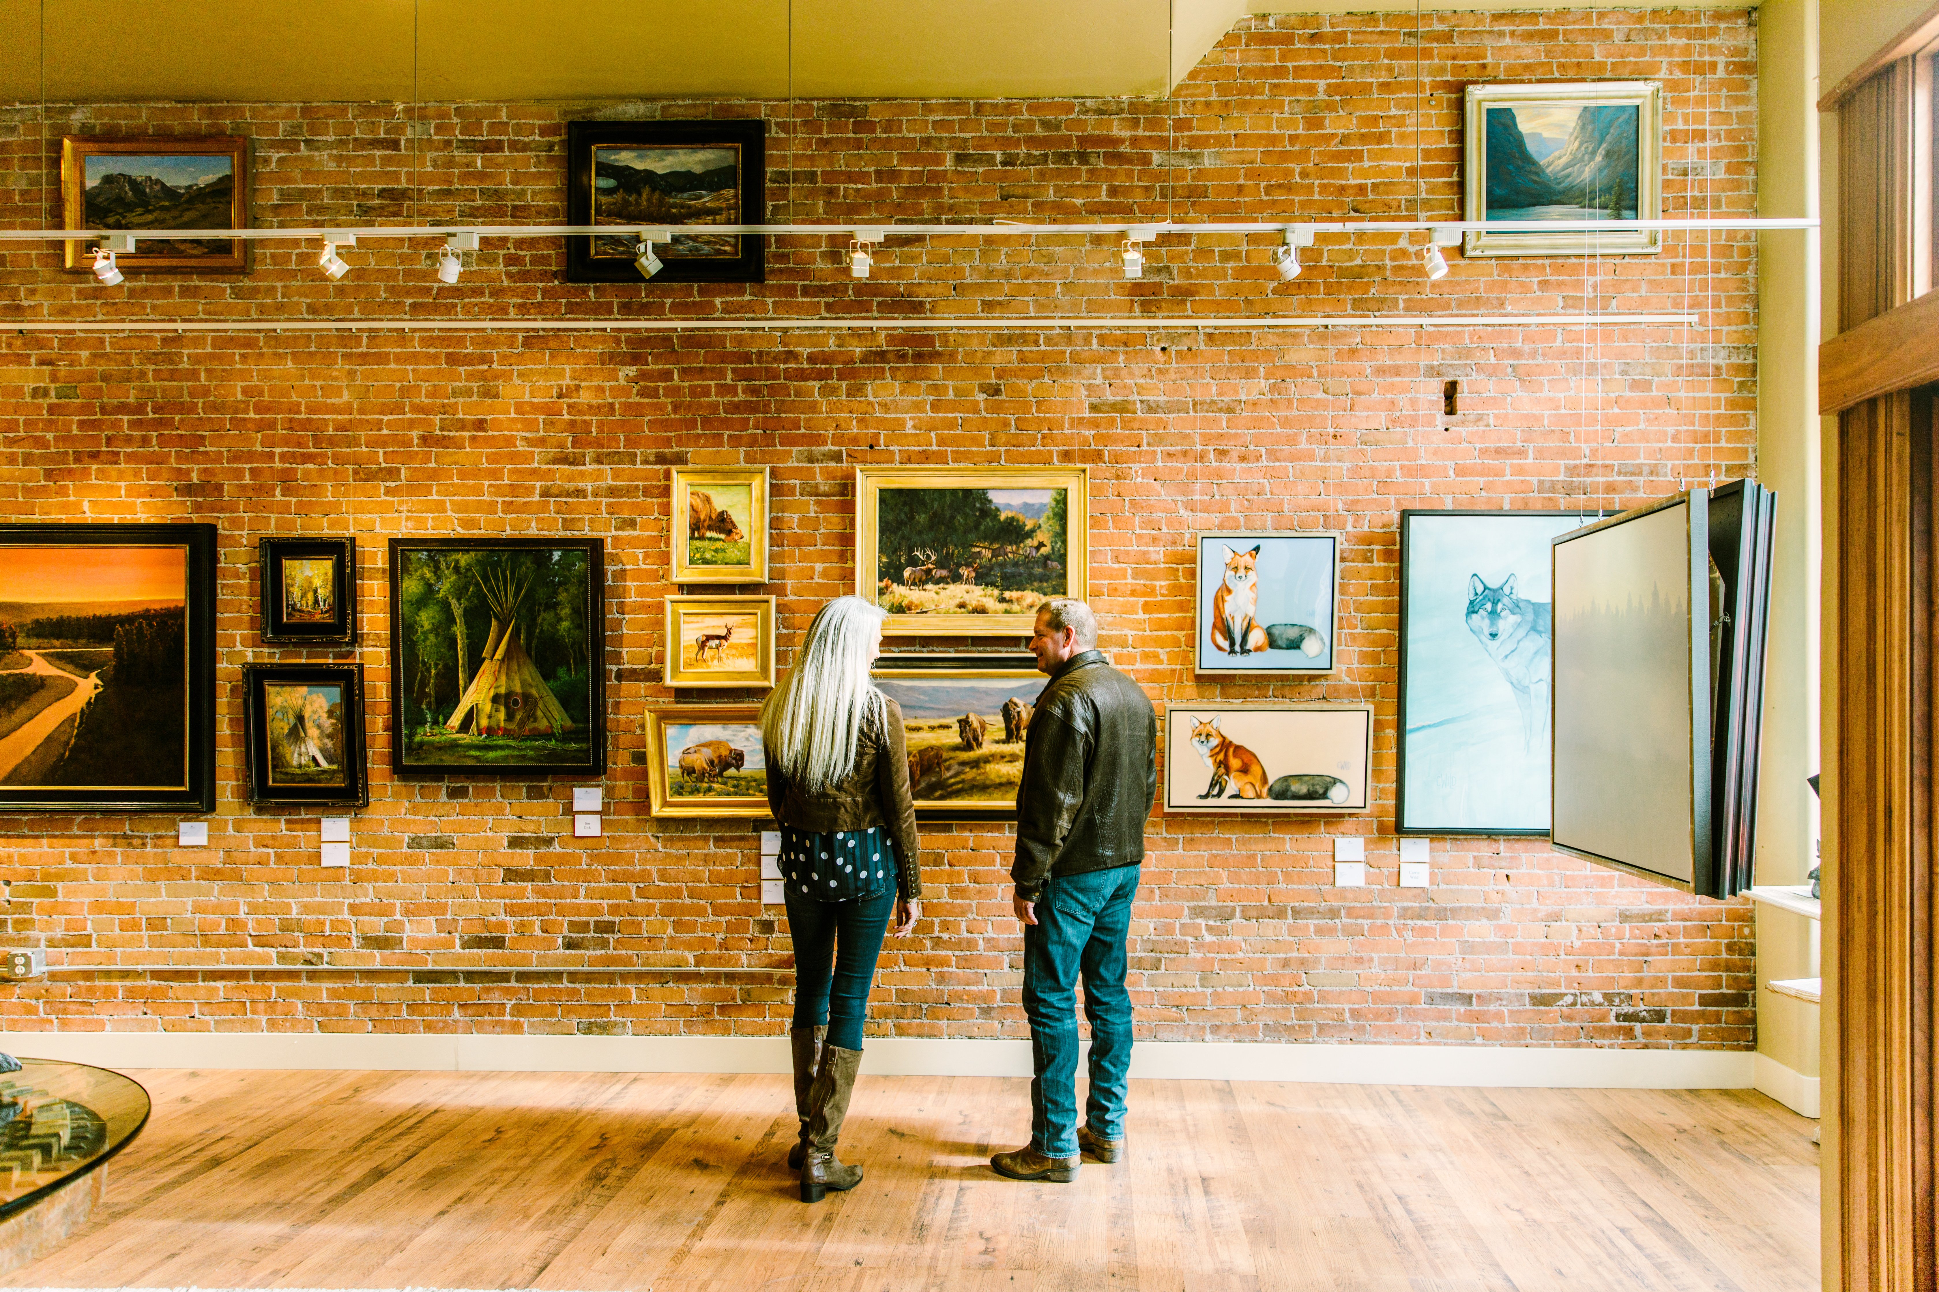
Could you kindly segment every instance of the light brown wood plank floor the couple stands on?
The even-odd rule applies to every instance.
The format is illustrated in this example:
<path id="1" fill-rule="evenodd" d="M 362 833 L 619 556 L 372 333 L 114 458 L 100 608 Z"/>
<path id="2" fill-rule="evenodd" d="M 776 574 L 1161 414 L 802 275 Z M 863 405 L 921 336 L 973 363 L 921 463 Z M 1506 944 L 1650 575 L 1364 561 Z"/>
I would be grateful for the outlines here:
<path id="1" fill-rule="evenodd" d="M 1819 1286 L 1811 1122 L 1749 1091 L 1134 1081 L 1132 1153 L 1012 1184 L 1008 1079 L 863 1079 L 805 1207 L 785 1077 L 136 1073 L 109 1201 L 14 1286 Z M 779 1114 L 779 1116 L 778 1116 Z"/>

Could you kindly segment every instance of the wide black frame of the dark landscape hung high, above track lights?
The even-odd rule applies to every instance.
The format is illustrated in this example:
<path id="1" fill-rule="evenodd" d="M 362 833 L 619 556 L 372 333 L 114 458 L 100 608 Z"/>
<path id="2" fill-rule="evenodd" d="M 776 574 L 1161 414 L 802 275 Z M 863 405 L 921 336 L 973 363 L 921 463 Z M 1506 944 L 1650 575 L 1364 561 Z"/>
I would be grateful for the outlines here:
<path id="1" fill-rule="evenodd" d="M 593 211 L 593 192 L 599 178 L 619 182 L 615 176 L 599 176 L 595 169 L 595 149 L 601 147 L 640 147 L 640 149 L 731 149 L 737 157 L 737 196 L 739 209 L 733 223 L 760 225 L 766 219 L 768 198 L 768 124 L 764 120 L 719 120 L 719 122 L 566 122 L 566 223 L 588 227 L 597 223 Z M 698 229 L 700 221 L 653 219 L 652 211 L 642 211 L 646 219 L 628 221 L 655 229 Z M 715 221 L 721 223 L 721 221 Z M 634 256 L 601 254 L 593 236 L 566 238 L 566 281 L 568 283 L 760 283 L 766 277 L 766 238 L 758 234 L 735 234 L 733 256 L 694 256 L 679 242 L 653 246 L 661 258 L 661 269 L 644 277 L 634 265 Z"/>

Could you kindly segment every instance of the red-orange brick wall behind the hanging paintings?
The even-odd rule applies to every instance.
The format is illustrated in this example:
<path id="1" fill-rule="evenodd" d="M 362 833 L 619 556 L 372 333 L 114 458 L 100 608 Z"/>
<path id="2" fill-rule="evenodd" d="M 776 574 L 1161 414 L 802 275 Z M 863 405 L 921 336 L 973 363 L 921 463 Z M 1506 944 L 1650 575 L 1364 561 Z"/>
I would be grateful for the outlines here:
<path id="1" fill-rule="evenodd" d="M 1286 219 L 1414 211 L 1412 17 L 1251 19 L 1165 103 L 646 103 L 764 116 L 778 219 Z M 1755 213 L 1745 12 L 1437 14 L 1425 41 L 1425 213 L 1458 215 L 1460 87 L 1654 77 L 1668 213 Z M 619 108 L 609 108 L 619 110 Z M 52 211 L 58 136 L 244 132 L 254 219 L 318 227 L 562 219 L 558 105 L 54 105 L 0 112 L 0 221 Z M 783 662 L 851 589 L 859 463 L 1084 463 L 1105 647 L 1160 701 L 1373 701 L 1377 810 L 1154 819 L 1132 936 L 1140 1034 L 1365 1042 L 1751 1044 L 1751 916 L 1540 841 L 1435 841 L 1402 891 L 1392 831 L 1396 513 L 1631 506 L 1751 467 L 1755 242 L 1671 236 L 1656 258 L 1454 261 L 1324 236 L 1284 287 L 1268 238 L 1167 238 L 1142 283 L 1107 238 L 892 238 L 853 283 L 840 240 L 785 238 L 770 281 L 572 287 L 560 248 L 489 242 L 456 287 L 434 246 L 264 244 L 248 275 L 101 291 L 45 250 L 0 252 L 0 325 L 25 318 L 911 316 L 888 333 L 0 335 L 10 519 L 221 527 L 221 802 L 206 850 L 173 819 L 16 817 L 6 941 L 64 967 L 0 988 L 6 1029 L 778 1032 L 789 963 L 745 825 L 646 815 L 640 715 L 657 684 L 667 469 L 776 480 Z M 1192 318 L 1340 310 L 1702 310 L 1691 329 L 1196 331 Z M 925 316 L 1138 314 L 1148 327 L 968 333 Z M 1165 320 L 1175 320 L 1167 323 Z M 1441 416 L 1460 380 L 1462 411 Z M 1191 672 L 1189 535 L 1346 537 L 1342 668 L 1320 682 Z M 351 533 L 365 568 L 374 798 L 347 879 L 314 812 L 240 796 L 254 544 Z M 570 781 L 394 779 L 386 538 L 591 533 L 611 564 L 607 835 L 570 837 Z M 1367 835 L 1367 889 L 1330 837 Z M 890 943 L 874 1031 L 1020 1036 L 1006 825 L 925 833 L 921 934 Z M 101 972 L 114 965 L 390 972 Z M 574 972 L 570 967 L 632 972 Z M 638 969 L 648 967 L 648 969 Z M 669 969 L 671 967 L 671 969 Z"/>

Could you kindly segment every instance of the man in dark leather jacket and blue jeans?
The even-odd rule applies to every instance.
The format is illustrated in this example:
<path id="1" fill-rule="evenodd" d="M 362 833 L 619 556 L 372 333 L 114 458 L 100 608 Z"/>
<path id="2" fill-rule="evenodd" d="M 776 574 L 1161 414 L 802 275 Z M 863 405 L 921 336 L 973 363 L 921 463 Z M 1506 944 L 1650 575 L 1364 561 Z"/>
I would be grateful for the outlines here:
<path id="1" fill-rule="evenodd" d="M 1037 612 L 1030 651 L 1051 674 L 1024 738 L 1016 790 L 1016 918 L 1024 922 L 1030 1015 L 1030 1145 L 989 1160 L 1010 1180 L 1074 1180 L 1082 1153 L 1125 1151 L 1130 992 L 1125 938 L 1158 794 L 1158 715 L 1097 651 L 1097 616 L 1057 599 Z M 1076 984 L 1092 1025 L 1090 1106 L 1078 1127 Z"/>

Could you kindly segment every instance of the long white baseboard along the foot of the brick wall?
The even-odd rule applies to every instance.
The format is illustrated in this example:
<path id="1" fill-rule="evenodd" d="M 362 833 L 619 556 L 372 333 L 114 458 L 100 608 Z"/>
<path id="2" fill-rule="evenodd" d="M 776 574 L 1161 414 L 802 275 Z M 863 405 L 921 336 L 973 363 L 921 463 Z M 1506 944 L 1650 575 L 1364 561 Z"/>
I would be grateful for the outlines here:
<path id="1" fill-rule="evenodd" d="M 314 1067 L 405 1071 L 785 1073 L 785 1036 L 496 1036 L 322 1032 L 0 1032 L 0 1050 L 101 1067 Z M 1336 1046 L 1138 1042 L 1130 1075 L 1173 1081 L 1766 1091 L 1749 1050 Z M 1817 1110 L 1817 1081 L 1809 1081 Z M 863 1073 L 1028 1077 L 1028 1040 L 874 1036 Z M 1766 1091 L 1797 1108 L 1776 1091 Z M 1799 1108 L 1799 1112 L 1803 1112 Z"/>

